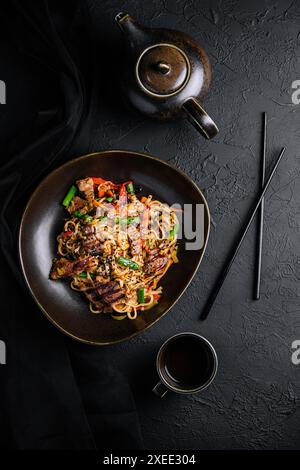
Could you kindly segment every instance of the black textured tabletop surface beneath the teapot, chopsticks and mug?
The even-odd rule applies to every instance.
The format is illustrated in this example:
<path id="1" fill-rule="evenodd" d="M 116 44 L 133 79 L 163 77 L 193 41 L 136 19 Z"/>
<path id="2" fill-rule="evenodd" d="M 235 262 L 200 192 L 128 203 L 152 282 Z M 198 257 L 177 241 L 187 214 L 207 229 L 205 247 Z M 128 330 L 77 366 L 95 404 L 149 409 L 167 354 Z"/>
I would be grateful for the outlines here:
<path id="1" fill-rule="evenodd" d="M 128 114 L 101 90 L 99 119 L 91 134 L 89 150 L 142 150 L 183 169 L 204 190 L 213 220 L 204 261 L 177 305 L 150 331 L 110 348 L 112 360 L 130 377 L 146 445 L 300 448 L 300 366 L 291 363 L 291 343 L 300 339 L 300 105 L 291 100 L 291 84 L 300 79 L 300 3 L 90 4 L 103 12 L 97 25 L 99 47 L 103 41 L 110 43 L 116 60 L 122 38 L 113 17 L 125 10 L 146 25 L 191 34 L 213 66 L 205 101 L 220 127 L 213 141 L 205 141 L 188 122 L 160 124 Z M 283 145 L 287 152 L 266 198 L 261 300 L 252 300 L 253 227 L 211 315 L 201 323 L 198 317 L 209 289 L 258 190 L 262 111 L 269 117 L 268 163 Z M 202 393 L 157 399 L 151 394 L 156 351 L 168 336 L 185 330 L 212 341 L 219 373 Z"/>

